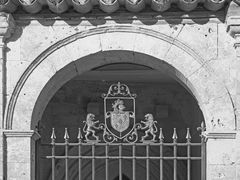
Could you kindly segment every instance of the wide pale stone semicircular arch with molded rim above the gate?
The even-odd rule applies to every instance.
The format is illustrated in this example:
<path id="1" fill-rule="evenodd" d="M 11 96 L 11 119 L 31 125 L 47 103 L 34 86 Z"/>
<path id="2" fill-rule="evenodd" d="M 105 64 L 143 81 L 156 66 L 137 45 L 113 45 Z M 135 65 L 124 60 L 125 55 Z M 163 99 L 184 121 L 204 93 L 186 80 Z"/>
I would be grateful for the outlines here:
<path id="1" fill-rule="evenodd" d="M 125 56 L 122 53 L 119 57 L 117 53 L 114 54 L 116 51 L 128 51 L 132 55 Z M 102 58 L 93 56 L 97 53 L 103 54 Z M 141 59 L 139 54 L 153 59 Z M 111 58 L 106 58 L 107 56 Z M 54 89 L 56 91 L 61 83 L 84 71 L 118 62 L 137 63 L 154 69 L 164 65 L 166 71 L 177 77 L 197 99 L 207 128 L 210 127 L 212 118 L 221 119 L 229 129 L 235 128 L 231 97 L 204 59 L 174 38 L 133 26 L 105 26 L 86 30 L 47 48 L 19 79 L 8 104 L 5 128 L 34 129 L 36 121 L 39 120 L 36 118 L 39 114 L 34 110 L 37 102 L 49 100 L 51 93 Z M 45 88 L 46 84 L 52 91 Z M 39 100 L 44 94 L 41 92 L 47 94 L 48 98 Z M 43 110 L 44 106 L 40 107 Z"/>

